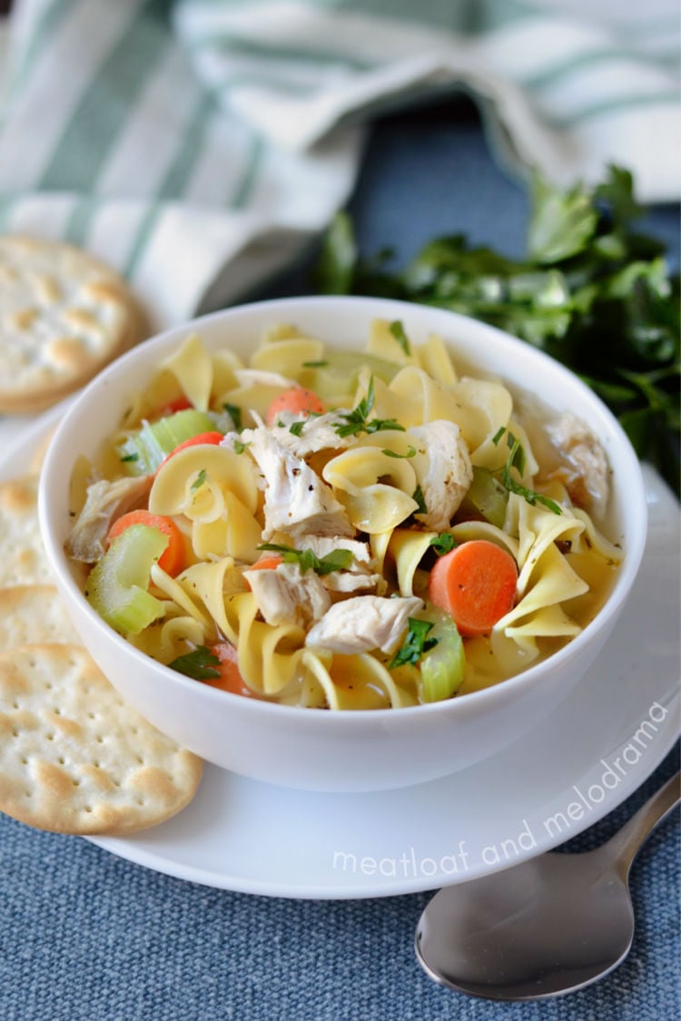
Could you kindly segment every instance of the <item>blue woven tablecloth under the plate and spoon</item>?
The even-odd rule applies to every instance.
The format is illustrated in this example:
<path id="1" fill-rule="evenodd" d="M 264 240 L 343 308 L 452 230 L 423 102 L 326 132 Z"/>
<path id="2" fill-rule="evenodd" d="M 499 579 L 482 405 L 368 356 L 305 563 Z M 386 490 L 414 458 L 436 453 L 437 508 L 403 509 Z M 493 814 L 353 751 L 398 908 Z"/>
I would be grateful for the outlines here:
<path id="1" fill-rule="evenodd" d="M 393 244 L 406 257 L 436 233 L 464 231 L 513 254 L 527 205 L 461 105 L 383 121 L 352 211 L 368 253 Z M 650 225 L 676 247 L 677 209 L 655 210 Z M 304 278 L 292 274 L 278 293 L 308 287 Z M 606 839 L 678 765 L 677 749 L 568 849 Z M 634 866 L 637 931 L 627 961 L 582 992 L 510 1006 L 452 993 L 422 972 L 414 930 L 429 894 L 296 902 L 231 893 L 0 816 L 0 1019 L 672 1021 L 681 1008 L 679 832 L 677 813 Z"/>

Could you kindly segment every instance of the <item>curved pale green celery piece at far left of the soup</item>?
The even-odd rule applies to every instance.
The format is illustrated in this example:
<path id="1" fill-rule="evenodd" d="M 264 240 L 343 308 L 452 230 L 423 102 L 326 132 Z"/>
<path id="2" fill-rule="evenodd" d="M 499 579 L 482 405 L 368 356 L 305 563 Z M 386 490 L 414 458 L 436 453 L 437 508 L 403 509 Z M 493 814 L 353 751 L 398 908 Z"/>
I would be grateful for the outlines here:
<path id="1" fill-rule="evenodd" d="M 116 536 L 88 578 L 86 597 L 120 634 L 139 634 L 163 616 L 163 604 L 147 591 L 149 572 L 168 538 L 148 525 L 131 525 Z"/>

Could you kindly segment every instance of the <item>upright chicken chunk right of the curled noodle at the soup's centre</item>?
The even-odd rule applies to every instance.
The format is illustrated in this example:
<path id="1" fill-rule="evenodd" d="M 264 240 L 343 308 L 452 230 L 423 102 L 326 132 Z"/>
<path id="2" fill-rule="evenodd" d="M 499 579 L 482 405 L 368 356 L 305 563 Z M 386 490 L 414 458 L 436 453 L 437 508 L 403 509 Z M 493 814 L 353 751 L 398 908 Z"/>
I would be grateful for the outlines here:
<path id="1" fill-rule="evenodd" d="M 412 426 L 407 433 L 419 443 L 411 465 L 428 508 L 415 517 L 426 528 L 441 532 L 449 527 L 473 482 L 468 445 L 458 426 L 444 419 Z"/>

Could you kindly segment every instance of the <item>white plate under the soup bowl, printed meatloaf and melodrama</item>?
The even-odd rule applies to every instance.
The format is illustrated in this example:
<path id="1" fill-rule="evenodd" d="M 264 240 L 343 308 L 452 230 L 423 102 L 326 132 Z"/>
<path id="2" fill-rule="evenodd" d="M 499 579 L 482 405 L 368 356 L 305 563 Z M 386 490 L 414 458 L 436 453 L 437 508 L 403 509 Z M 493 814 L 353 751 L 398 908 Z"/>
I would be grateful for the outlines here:
<path id="1" fill-rule="evenodd" d="M 21 474 L 58 411 L 27 429 L 0 477 Z M 374 897 L 432 889 L 548 850 L 616 808 L 672 747 L 681 718 L 679 506 L 646 468 L 649 534 L 607 646 L 548 720 L 454 776 L 402 790 L 317 794 L 207 766 L 169 822 L 100 847 L 224 889 Z"/>

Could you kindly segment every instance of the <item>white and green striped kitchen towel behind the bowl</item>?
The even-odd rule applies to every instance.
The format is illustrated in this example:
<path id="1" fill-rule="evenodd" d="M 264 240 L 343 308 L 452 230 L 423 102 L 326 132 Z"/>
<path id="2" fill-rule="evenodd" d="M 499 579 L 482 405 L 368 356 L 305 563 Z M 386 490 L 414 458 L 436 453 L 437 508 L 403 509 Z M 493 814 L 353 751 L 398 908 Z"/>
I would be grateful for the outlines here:
<path id="1" fill-rule="evenodd" d="M 455 89 L 518 172 L 679 198 L 670 0 L 15 0 L 9 29 L 0 231 L 91 249 L 157 327 L 294 257 L 370 119 Z"/>

